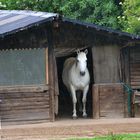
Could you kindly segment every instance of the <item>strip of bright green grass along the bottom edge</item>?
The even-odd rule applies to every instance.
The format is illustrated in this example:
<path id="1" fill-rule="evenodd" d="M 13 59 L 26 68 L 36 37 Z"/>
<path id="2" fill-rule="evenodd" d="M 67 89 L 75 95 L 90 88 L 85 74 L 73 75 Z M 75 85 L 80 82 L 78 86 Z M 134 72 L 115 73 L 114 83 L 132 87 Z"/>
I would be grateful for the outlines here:
<path id="1" fill-rule="evenodd" d="M 94 138 L 74 138 L 70 140 L 140 140 L 140 134 L 109 134 Z"/>

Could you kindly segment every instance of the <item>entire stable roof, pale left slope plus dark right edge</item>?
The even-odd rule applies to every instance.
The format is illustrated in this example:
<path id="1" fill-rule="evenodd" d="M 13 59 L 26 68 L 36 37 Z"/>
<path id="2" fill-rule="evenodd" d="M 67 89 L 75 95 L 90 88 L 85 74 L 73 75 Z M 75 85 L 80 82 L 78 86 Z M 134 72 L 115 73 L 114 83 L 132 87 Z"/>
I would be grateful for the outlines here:
<path id="1" fill-rule="evenodd" d="M 65 17 L 61 17 L 56 13 L 28 10 L 0 10 L 0 38 L 54 20 L 63 22 L 64 24 L 81 26 L 88 31 L 89 29 L 91 31 L 96 30 L 97 33 L 102 32 L 106 36 L 113 35 L 117 38 L 125 38 L 125 40 L 129 40 L 132 42 L 140 42 L 140 36 L 137 35 L 113 30 L 111 28 L 103 27 L 93 23 L 86 23 L 78 20 L 68 19 Z"/>

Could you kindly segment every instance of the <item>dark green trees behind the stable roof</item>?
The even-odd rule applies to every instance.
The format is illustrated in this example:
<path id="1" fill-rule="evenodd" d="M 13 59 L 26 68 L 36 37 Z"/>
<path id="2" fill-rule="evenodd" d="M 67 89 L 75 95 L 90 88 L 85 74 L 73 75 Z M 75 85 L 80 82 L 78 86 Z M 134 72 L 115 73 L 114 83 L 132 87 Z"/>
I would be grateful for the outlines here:
<path id="1" fill-rule="evenodd" d="M 120 29 L 116 0 L 0 0 L 1 9 L 57 12 L 65 17 Z"/>

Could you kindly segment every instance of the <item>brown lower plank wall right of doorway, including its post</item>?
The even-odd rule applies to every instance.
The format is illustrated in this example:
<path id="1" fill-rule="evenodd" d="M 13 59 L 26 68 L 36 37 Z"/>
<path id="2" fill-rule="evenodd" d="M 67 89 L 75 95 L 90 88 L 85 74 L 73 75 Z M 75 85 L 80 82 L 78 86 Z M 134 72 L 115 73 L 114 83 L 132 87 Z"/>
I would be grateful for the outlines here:
<path id="1" fill-rule="evenodd" d="M 123 86 L 115 84 L 93 85 L 93 117 L 124 118 L 126 102 Z"/>

